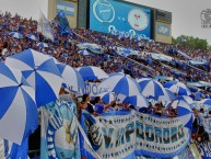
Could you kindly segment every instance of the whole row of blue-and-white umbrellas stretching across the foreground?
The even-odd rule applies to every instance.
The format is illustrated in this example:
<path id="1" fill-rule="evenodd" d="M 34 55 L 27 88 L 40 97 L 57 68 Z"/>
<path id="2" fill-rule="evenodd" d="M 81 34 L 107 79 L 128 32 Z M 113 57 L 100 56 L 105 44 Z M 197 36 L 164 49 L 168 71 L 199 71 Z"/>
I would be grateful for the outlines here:
<path id="1" fill-rule="evenodd" d="M 37 109 L 56 101 L 61 86 L 83 90 L 90 80 L 102 80 L 99 88 L 108 89 L 99 94 L 105 103 L 120 94 L 124 102 L 139 107 L 148 107 L 150 99 L 163 102 L 176 99 L 172 106 L 177 107 L 184 125 L 194 121 L 190 106 L 194 101 L 188 96 L 191 92 L 181 82 L 162 86 L 153 79 L 136 80 L 122 72 L 107 75 L 94 66 L 75 69 L 34 49 L 0 63 L 0 138 L 19 145 L 36 129 Z"/>

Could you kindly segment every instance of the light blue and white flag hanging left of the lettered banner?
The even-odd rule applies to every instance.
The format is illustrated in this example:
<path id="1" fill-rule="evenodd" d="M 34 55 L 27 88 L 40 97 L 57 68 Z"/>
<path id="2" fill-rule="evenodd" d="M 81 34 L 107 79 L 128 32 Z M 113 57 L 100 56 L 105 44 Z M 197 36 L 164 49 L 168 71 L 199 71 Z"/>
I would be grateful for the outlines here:
<path id="1" fill-rule="evenodd" d="M 81 159 L 77 105 L 57 101 L 42 107 L 42 159 Z"/>

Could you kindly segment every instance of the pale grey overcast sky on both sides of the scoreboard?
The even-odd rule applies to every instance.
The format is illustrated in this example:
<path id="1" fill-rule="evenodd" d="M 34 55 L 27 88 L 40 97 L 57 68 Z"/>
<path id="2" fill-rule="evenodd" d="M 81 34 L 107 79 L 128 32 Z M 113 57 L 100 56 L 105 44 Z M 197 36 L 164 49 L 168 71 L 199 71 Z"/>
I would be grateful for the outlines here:
<path id="1" fill-rule="evenodd" d="M 211 29 L 201 29 L 200 13 L 211 9 L 211 0 L 127 0 L 159 8 L 173 13 L 173 36 L 181 34 L 208 39 L 211 44 Z M 48 0 L 0 0 L 0 10 L 38 19 L 39 9 L 47 14 Z"/>

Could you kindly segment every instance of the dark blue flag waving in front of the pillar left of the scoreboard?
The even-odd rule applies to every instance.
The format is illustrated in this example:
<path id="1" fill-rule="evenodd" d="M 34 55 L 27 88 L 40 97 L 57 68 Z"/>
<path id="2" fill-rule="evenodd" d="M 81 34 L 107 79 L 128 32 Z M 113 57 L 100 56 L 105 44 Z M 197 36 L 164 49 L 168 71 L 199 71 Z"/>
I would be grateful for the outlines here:
<path id="1" fill-rule="evenodd" d="M 60 34 L 70 34 L 70 25 L 68 22 L 68 19 L 66 18 L 66 13 L 63 10 L 60 10 L 57 13 L 56 19 L 58 20 L 59 23 L 59 29 L 60 29 Z"/>

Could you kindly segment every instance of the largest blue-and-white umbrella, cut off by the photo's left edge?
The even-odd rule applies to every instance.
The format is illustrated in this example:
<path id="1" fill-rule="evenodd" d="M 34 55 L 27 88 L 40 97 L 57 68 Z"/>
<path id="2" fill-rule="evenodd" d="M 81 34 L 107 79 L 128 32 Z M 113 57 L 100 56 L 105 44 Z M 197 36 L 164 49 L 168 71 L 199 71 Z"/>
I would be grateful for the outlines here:
<path id="1" fill-rule="evenodd" d="M 0 138 L 17 145 L 37 127 L 35 90 L 20 70 L 0 63 Z"/>

